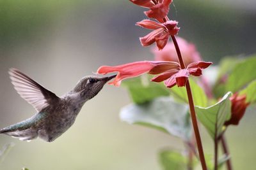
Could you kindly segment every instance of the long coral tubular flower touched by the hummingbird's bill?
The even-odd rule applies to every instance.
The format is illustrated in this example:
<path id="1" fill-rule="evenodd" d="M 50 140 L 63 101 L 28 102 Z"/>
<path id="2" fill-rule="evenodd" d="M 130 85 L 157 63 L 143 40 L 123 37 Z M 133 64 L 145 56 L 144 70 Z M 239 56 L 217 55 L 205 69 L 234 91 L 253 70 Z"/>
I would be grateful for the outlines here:
<path id="1" fill-rule="evenodd" d="M 178 69 L 179 64 L 177 62 L 161 62 L 161 61 L 138 61 L 123 64 L 120 66 L 101 66 L 97 70 L 99 74 L 108 74 L 112 72 L 118 72 L 115 79 L 109 84 L 120 86 L 120 83 L 125 78 L 132 78 L 140 76 L 143 73 L 150 72 L 151 74 L 159 74 L 169 69 Z"/>

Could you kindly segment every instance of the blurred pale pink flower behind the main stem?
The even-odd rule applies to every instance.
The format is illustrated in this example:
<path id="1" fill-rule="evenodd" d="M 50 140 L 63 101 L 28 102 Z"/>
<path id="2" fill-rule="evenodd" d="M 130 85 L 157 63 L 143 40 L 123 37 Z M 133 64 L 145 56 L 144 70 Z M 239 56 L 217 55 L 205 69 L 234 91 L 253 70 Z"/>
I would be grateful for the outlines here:
<path id="1" fill-rule="evenodd" d="M 198 51 L 196 50 L 195 45 L 193 45 L 192 43 L 188 43 L 188 41 L 179 37 L 177 37 L 177 42 L 179 44 L 180 52 L 182 53 L 182 58 L 186 66 L 188 66 L 188 64 L 190 64 L 191 62 L 201 60 L 200 53 L 198 53 Z M 153 48 L 152 52 L 154 53 L 156 60 L 179 62 L 173 43 L 167 43 L 163 50 Z"/>

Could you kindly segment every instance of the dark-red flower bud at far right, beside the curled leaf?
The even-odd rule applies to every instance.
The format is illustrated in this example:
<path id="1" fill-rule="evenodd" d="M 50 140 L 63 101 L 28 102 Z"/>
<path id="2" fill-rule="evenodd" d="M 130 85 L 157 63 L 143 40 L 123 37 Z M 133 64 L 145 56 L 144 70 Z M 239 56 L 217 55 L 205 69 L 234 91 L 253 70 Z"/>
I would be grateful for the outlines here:
<path id="1" fill-rule="evenodd" d="M 239 121 L 243 117 L 247 106 L 250 103 L 246 103 L 246 95 L 243 94 L 241 96 L 238 96 L 237 93 L 235 93 L 232 97 L 230 97 L 231 101 L 231 118 L 230 120 L 225 122 L 225 125 L 238 125 Z"/>

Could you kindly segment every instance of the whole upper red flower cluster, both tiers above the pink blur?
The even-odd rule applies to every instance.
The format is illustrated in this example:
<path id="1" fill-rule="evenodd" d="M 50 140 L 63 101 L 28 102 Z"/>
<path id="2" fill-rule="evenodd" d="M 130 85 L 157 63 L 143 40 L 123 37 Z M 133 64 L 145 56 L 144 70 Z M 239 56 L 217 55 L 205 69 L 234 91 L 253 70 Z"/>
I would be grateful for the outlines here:
<path id="1" fill-rule="evenodd" d="M 148 18 L 154 18 L 157 20 L 157 22 L 152 20 L 142 20 L 141 22 L 136 23 L 136 25 L 140 25 L 141 27 L 154 30 L 140 38 L 141 45 L 149 46 L 156 42 L 158 49 L 162 50 L 168 42 L 169 37 L 174 36 L 179 32 L 179 27 L 177 27 L 178 22 L 175 20 L 169 20 L 167 17 L 172 0 L 130 1 L 139 6 L 149 8 L 148 11 L 144 12 L 145 15 L 147 15 Z"/>

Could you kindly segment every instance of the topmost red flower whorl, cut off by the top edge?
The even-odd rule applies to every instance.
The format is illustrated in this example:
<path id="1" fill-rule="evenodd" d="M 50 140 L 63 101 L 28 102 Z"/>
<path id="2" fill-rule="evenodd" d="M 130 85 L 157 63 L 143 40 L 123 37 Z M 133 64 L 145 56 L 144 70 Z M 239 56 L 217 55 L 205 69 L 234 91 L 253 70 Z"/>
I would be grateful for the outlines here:
<path id="1" fill-rule="evenodd" d="M 149 8 L 150 10 L 145 11 L 145 15 L 149 18 L 155 18 L 159 22 L 164 22 L 163 18 L 168 15 L 170 10 L 170 3 L 172 0 L 156 0 L 156 4 L 153 1 L 148 0 L 130 0 L 132 3 L 137 4 L 139 6 L 143 6 L 145 8 Z"/>

